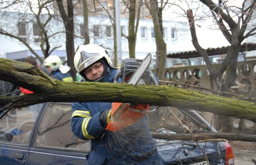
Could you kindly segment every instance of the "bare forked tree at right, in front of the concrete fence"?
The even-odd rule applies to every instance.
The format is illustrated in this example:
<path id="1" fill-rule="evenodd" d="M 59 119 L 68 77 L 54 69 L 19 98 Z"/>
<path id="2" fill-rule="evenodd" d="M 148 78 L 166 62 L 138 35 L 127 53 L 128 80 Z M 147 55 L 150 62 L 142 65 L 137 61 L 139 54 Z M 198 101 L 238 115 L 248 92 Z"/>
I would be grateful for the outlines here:
<path id="1" fill-rule="evenodd" d="M 256 0 L 244 0 L 241 2 L 241 7 L 234 6 L 232 3 L 229 3 L 229 1 L 219 0 L 218 4 L 211 0 L 200 1 L 210 9 L 210 12 L 208 13 L 212 14 L 216 25 L 230 43 L 230 48 L 223 60 L 223 63 L 217 69 L 217 71 L 215 71 L 212 68 L 212 64 L 209 60 L 207 52 L 200 46 L 200 43 L 197 40 L 193 12 L 191 9 L 189 9 L 187 10 L 187 17 L 190 23 L 192 42 L 196 50 L 203 57 L 206 65 L 208 66 L 210 75 L 216 82 L 218 88 L 223 91 L 229 91 L 237 77 L 236 64 L 241 43 L 247 37 L 256 34 L 256 27 L 248 26 L 255 11 Z M 220 81 L 224 72 L 226 72 L 226 75 L 224 77 L 224 83 L 222 84 Z"/>

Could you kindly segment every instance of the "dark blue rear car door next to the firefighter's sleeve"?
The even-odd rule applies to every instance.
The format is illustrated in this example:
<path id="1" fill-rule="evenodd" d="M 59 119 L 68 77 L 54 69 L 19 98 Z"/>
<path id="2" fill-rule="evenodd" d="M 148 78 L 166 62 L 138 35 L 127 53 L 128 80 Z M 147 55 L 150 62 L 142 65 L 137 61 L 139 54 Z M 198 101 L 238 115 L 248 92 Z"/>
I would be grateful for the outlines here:
<path id="1" fill-rule="evenodd" d="M 71 131 L 71 104 L 48 103 L 36 126 L 29 165 L 86 165 L 90 141 Z"/>

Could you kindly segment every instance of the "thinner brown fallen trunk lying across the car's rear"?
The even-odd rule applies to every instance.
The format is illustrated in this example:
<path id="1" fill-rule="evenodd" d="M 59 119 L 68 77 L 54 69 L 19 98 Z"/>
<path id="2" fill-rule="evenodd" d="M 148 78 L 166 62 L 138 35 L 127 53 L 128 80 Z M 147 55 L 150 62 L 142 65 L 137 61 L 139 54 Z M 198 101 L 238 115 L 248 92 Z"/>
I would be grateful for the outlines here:
<path id="1" fill-rule="evenodd" d="M 239 140 L 256 142 L 256 135 L 242 134 L 242 133 L 151 133 L 153 138 L 168 139 L 168 140 L 185 140 L 185 141 L 199 141 L 207 139 L 223 139 L 226 140 Z M 219 140 L 221 141 L 221 140 Z"/>

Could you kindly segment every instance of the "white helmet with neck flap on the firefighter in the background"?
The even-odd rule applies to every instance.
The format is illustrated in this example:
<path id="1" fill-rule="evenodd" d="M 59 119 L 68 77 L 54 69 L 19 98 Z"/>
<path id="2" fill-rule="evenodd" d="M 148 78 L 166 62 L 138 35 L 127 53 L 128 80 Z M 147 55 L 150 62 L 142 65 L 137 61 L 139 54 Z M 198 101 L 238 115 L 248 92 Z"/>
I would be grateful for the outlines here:
<path id="1" fill-rule="evenodd" d="M 62 61 L 57 55 L 50 55 L 49 57 L 45 58 L 43 66 L 50 66 L 53 71 L 59 69 L 63 74 L 70 70 L 69 66 L 62 65 Z"/>

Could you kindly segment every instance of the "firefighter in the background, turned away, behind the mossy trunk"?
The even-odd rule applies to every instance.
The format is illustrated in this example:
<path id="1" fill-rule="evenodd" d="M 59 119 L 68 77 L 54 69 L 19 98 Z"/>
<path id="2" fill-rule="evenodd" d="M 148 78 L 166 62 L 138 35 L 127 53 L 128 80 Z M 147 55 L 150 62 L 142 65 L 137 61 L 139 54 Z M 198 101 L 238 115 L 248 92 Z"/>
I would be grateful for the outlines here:
<path id="1" fill-rule="evenodd" d="M 49 57 L 45 58 L 43 66 L 47 68 L 51 74 L 53 74 L 53 78 L 66 82 L 73 81 L 73 78 L 68 73 L 70 67 L 63 66 L 60 57 L 57 55 L 50 55 Z"/>

